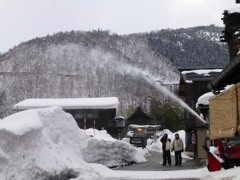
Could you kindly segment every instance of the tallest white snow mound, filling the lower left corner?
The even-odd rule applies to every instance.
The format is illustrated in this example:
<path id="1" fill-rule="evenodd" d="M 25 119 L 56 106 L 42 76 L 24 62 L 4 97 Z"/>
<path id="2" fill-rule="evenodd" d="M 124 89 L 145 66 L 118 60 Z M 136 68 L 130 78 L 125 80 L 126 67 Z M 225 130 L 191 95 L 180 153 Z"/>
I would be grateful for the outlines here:
<path id="1" fill-rule="evenodd" d="M 0 179 L 76 177 L 81 167 L 94 176 L 82 159 L 87 135 L 61 108 L 13 114 L 0 121 L 0 136 Z"/>

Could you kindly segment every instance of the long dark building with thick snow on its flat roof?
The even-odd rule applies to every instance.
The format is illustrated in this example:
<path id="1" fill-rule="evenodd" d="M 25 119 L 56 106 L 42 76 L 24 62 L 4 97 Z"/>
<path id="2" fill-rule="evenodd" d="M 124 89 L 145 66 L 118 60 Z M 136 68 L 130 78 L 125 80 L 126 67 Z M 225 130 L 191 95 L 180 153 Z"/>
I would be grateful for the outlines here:
<path id="1" fill-rule="evenodd" d="M 27 110 L 60 106 L 70 113 L 78 126 L 110 130 L 116 117 L 119 100 L 117 97 L 105 98 L 62 98 L 62 99 L 25 99 L 14 106 L 15 110 Z"/>

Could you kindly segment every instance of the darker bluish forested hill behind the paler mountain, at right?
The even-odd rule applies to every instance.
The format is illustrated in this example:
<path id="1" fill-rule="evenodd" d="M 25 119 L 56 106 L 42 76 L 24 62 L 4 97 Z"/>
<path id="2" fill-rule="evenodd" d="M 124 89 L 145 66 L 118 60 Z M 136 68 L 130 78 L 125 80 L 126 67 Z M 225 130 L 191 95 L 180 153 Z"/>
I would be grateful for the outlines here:
<path id="1" fill-rule="evenodd" d="M 223 68 L 229 62 L 227 45 L 220 42 L 224 29 L 200 26 L 161 30 L 147 35 L 151 49 L 179 69 Z"/>

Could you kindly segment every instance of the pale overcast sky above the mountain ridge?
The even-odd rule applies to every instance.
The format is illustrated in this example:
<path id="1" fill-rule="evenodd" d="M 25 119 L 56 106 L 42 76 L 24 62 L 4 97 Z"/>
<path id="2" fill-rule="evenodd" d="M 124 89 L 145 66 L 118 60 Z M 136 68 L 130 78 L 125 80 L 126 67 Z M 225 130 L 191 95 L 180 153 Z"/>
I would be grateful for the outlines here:
<path id="1" fill-rule="evenodd" d="M 59 31 L 117 34 L 215 24 L 235 0 L 0 0 L 0 52 Z"/>

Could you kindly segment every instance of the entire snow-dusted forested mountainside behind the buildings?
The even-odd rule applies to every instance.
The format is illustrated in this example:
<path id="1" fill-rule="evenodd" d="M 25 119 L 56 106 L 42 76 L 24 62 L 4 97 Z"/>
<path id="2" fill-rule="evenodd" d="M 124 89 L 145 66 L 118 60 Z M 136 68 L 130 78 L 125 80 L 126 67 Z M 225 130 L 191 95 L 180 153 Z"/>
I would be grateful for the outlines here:
<path id="1" fill-rule="evenodd" d="M 21 43 L 0 55 L 1 117 L 11 114 L 13 105 L 25 98 L 117 96 L 120 114 L 128 106 L 145 107 L 149 96 L 159 96 L 145 77 L 176 83 L 178 68 L 192 68 L 195 59 L 201 67 L 209 67 L 209 59 L 218 67 L 227 63 L 227 49 L 214 40 L 216 33 L 202 28 L 196 38 L 188 32 L 191 28 L 124 36 L 101 30 L 71 31 Z M 202 52 L 195 57 L 201 49 L 198 44 L 205 44 L 208 58 L 199 60 L 205 57 Z"/>

